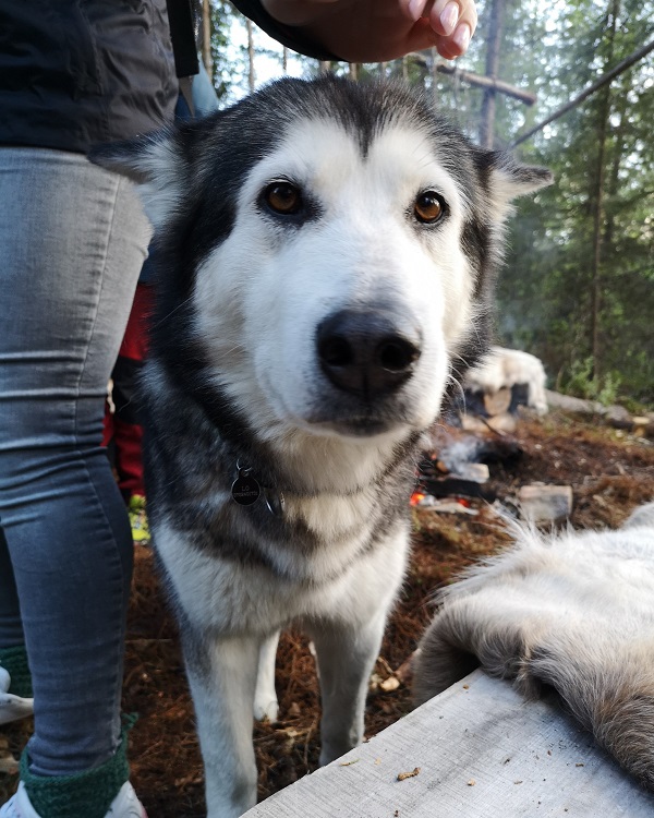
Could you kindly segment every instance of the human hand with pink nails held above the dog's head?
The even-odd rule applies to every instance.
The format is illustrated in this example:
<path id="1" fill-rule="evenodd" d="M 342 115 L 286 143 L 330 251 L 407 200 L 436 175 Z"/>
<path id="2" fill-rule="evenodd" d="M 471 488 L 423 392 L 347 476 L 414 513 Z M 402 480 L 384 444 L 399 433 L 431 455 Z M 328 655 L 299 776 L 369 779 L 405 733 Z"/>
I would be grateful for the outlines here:
<path id="1" fill-rule="evenodd" d="M 350 62 L 379 62 L 435 46 L 448 60 L 465 53 L 476 27 L 474 0 L 262 0 Z"/>

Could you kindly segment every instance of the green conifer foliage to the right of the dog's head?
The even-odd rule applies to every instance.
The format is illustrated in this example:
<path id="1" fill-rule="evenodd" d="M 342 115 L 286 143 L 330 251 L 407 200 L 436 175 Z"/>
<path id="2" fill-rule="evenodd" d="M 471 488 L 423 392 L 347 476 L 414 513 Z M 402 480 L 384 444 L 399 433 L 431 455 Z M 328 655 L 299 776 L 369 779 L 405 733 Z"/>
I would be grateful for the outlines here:
<path id="1" fill-rule="evenodd" d="M 555 67 L 553 82 L 540 91 L 536 120 L 577 96 L 654 34 L 652 0 L 623 0 L 620 8 L 608 0 L 569 0 L 554 13 L 534 13 L 548 15 L 550 37 L 536 44 L 536 73 L 528 86 L 538 83 L 537 65 Z M 507 43 L 504 67 L 509 73 L 502 79 L 509 82 L 516 82 L 512 48 Z M 585 386 L 593 399 L 615 398 L 619 385 L 622 395 L 654 402 L 653 88 L 650 53 L 607 91 L 592 95 L 520 148 L 525 161 L 550 167 L 556 184 L 518 208 L 499 282 L 498 333 L 505 344 L 538 354 L 549 373 L 559 374 L 559 385 L 584 393 L 584 368 L 594 351 L 593 216 L 600 206 L 598 341 L 592 361 L 597 375 Z"/>

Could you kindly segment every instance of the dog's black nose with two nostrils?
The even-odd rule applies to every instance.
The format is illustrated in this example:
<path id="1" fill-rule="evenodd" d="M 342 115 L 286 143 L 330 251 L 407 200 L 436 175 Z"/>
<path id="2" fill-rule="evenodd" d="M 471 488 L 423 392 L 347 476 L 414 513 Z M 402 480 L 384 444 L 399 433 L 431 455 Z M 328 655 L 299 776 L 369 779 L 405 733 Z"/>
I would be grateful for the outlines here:
<path id="1" fill-rule="evenodd" d="M 325 318 L 316 344 L 323 372 L 339 389 L 370 399 L 392 392 L 413 372 L 421 353 L 414 322 L 388 310 L 341 310 Z"/>

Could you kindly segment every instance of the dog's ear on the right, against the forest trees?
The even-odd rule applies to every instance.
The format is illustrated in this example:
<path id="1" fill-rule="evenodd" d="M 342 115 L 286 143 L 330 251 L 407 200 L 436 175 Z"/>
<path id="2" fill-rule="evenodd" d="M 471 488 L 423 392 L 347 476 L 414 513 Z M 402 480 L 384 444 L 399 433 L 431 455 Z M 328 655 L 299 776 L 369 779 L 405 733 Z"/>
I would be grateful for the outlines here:
<path id="1" fill-rule="evenodd" d="M 520 165 L 505 152 L 483 152 L 477 167 L 486 176 L 494 220 L 504 220 L 511 213 L 511 202 L 518 196 L 534 193 L 552 184 L 554 177 L 547 168 Z"/>

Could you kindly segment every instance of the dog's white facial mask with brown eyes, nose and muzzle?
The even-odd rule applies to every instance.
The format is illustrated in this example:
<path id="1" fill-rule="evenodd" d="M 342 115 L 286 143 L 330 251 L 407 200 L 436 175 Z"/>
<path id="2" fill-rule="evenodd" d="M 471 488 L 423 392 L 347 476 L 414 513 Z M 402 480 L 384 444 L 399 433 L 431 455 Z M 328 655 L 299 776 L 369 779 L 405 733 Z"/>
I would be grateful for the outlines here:
<path id="1" fill-rule="evenodd" d="M 464 208 L 424 134 L 388 128 L 364 155 L 338 122 L 294 123 L 247 173 L 197 275 L 209 353 L 241 347 L 232 397 L 318 434 L 428 424 L 472 323 Z"/>

